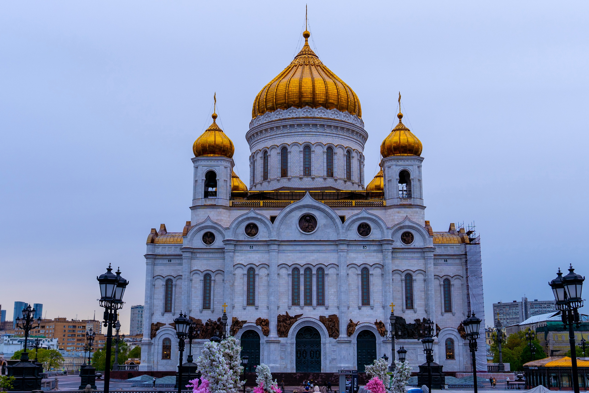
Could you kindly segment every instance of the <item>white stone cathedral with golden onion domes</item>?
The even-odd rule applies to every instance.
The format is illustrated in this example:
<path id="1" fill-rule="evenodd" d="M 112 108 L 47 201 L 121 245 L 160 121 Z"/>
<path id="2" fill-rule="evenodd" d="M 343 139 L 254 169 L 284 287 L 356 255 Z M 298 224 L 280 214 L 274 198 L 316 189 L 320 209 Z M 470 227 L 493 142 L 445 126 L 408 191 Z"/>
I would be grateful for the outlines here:
<path id="1" fill-rule="evenodd" d="M 222 334 L 225 309 L 246 371 L 363 372 L 385 354 L 391 361 L 393 305 L 395 345 L 413 371 L 425 362 L 424 318 L 435 322 L 435 362 L 471 370 L 461 325 L 471 312 L 482 319 L 477 369 L 486 371 L 479 237 L 454 223 L 434 232 L 426 220 L 422 143 L 403 124 L 400 96 L 380 171 L 365 186 L 360 100 L 303 36 L 254 99 L 249 187 L 213 111 L 193 145 L 190 220 L 147 236 L 140 370 L 176 369 L 180 312 L 198 325 L 196 358 Z"/>

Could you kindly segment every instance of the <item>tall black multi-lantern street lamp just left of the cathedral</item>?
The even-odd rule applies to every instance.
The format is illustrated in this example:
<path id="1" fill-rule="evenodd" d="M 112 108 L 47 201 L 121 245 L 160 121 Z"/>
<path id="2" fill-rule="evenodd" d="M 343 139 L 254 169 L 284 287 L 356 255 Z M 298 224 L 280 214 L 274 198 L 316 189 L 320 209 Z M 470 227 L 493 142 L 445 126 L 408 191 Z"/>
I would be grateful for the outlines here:
<path id="1" fill-rule="evenodd" d="M 108 392 L 110 388 L 110 356 L 112 350 L 112 325 L 118 321 L 117 310 L 123 308 L 123 295 L 125 288 L 127 288 L 128 281 L 121 277 L 120 270 L 117 270 L 116 275 L 112 273 L 110 264 L 107 267 L 107 272 L 96 278 L 100 285 L 100 306 L 104 307 L 104 316 L 102 323 L 107 328 L 107 348 L 105 353 L 105 367 L 104 367 L 104 391 Z"/>

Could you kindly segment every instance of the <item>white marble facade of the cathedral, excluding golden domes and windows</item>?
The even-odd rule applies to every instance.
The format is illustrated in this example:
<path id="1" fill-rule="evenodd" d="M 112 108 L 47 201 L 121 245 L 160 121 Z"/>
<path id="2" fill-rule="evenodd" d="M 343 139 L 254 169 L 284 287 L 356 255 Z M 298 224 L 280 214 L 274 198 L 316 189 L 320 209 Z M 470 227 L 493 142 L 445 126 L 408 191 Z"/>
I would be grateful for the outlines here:
<path id="1" fill-rule="evenodd" d="M 363 148 L 368 133 L 361 119 L 337 110 L 323 108 L 275 111 L 258 116 L 250 123 L 246 140 L 250 144 L 250 190 L 275 190 L 281 187 L 317 189 L 331 187 L 339 190 L 363 190 Z M 312 172 L 303 176 L 302 148 L 312 148 Z M 289 152 L 289 176 L 281 177 L 280 150 Z M 325 151 L 334 151 L 333 177 L 326 176 Z M 352 179 L 346 179 L 343 156 L 351 151 Z M 261 157 L 267 151 L 270 170 L 262 180 Z M 273 161 L 274 160 L 274 161 Z M 415 319 L 431 318 L 441 328 L 434 349 L 435 361 L 446 371 L 471 369 L 468 342 L 458 333 L 458 326 L 468 312 L 466 268 L 481 271 L 479 245 L 469 245 L 453 227 L 449 232 L 433 232 L 425 221 L 422 196 L 422 157 L 388 157 L 382 160 L 384 168 L 385 203 L 372 207 L 330 207 L 306 194 L 303 199 L 286 207 L 233 206 L 230 199 L 231 169 L 233 160 L 226 157 L 195 157 L 194 194 L 190 222 L 184 232 L 168 233 L 165 226 L 152 230 L 147 243 L 145 280 L 144 338 L 141 342 L 140 369 L 173 370 L 178 362 L 177 339 L 169 325 L 180 311 L 194 318 L 216 320 L 227 303 L 229 321 L 233 316 L 247 321 L 237 333 L 248 329 L 258 332 L 260 361 L 274 372 L 295 372 L 294 336 L 304 326 L 313 326 L 321 336 L 321 371 L 336 372 L 340 368 L 356 368 L 356 336 L 368 329 L 376 336 L 377 356 L 391 357 L 391 342 L 379 335 L 375 321 L 388 321 L 391 302 L 395 315 L 412 323 Z M 254 164 L 254 162 L 256 164 Z M 214 171 L 217 176 L 217 197 L 204 198 L 205 173 Z M 411 174 L 413 195 L 409 199 L 398 197 L 396 184 L 401 170 Z M 366 179 L 368 183 L 370 179 Z M 188 181 L 188 179 L 187 179 Z M 303 232 L 299 219 L 312 214 L 317 220 L 313 232 Z M 342 222 L 342 216 L 344 220 Z M 256 236 L 246 235 L 247 224 L 254 223 Z M 358 226 L 368 223 L 369 236 L 362 237 Z M 441 224 L 440 224 L 441 225 Z M 203 242 L 206 232 L 214 234 L 211 244 Z M 413 242 L 405 244 L 402 233 L 411 232 Z M 462 232 L 464 235 L 464 231 Z M 454 239 L 454 240 L 447 240 Z M 467 262 L 468 260 L 468 262 Z M 255 293 L 252 305 L 247 305 L 247 270 L 255 272 Z M 292 273 L 297 267 L 300 274 L 310 267 L 313 273 L 312 304 L 293 305 Z M 361 299 L 360 272 L 369 272 L 369 303 Z M 316 273 L 325 272 L 325 305 L 317 305 Z M 210 275 L 210 308 L 203 299 L 204 276 Z M 472 273 L 471 273 L 472 274 Z M 409 275 L 409 276 L 408 276 Z M 406 307 L 405 280 L 413 283 L 413 308 Z M 171 308 L 164 309 L 166 281 L 173 285 Z M 444 281 L 449 280 L 451 307 L 444 305 Z M 301 280 L 302 282 L 302 280 Z M 469 296 L 473 311 L 483 319 L 479 344 L 478 369 L 485 366 L 484 310 L 482 309 L 482 278 L 472 280 Z M 447 295 L 447 292 L 446 292 Z M 301 288 L 302 298 L 302 288 Z M 250 302 L 252 303 L 252 302 Z M 301 299 L 303 303 L 303 299 Z M 446 301 L 447 303 L 447 301 Z M 290 328 L 287 337 L 277 334 L 277 315 L 302 316 Z M 329 337 L 319 316 L 337 314 L 337 339 Z M 257 318 L 267 318 L 268 336 L 262 334 Z M 349 319 L 360 322 L 352 336 L 347 336 Z M 165 324 L 151 338 L 152 323 Z M 164 339 L 171 339 L 170 359 L 162 356 Z M 445 342 L 451 338 L 455 344 L 454 359 L 446 359 Z M 193 345 L 198 356 L 204 340 Z M 415 367 L 425 362 L 421 342 L 403 339 L 396 342 L 408 350 L 407 359 Z M 390 361 L 390 360 L 389 360 Z"/>

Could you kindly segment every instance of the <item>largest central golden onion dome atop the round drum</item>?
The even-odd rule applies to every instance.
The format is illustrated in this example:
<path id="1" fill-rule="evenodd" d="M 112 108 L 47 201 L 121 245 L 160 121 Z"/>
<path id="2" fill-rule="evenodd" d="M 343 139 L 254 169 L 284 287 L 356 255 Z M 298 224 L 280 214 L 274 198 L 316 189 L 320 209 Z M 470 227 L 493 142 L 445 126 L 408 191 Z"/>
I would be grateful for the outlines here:
<path id="1" fill-rule="evenodd" d="M 305 45 L 289 66 L 257 94 L 252 118 L 266 112 L 290 107 L 323 107 L 347 111 L 362 117 L 358 95 L 329 68 L 309 47 L 310 32 L 305 30 Z"/>

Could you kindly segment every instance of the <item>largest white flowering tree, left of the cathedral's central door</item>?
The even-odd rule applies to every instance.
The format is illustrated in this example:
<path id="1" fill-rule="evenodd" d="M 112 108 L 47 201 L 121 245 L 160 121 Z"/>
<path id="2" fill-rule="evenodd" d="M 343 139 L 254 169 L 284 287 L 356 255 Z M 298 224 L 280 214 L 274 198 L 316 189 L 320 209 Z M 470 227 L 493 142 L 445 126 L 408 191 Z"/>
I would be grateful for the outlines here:
<path id="1" fill-rule="evenodd" d="M 243 371 L 240 365 L 241 348 L 237 340 L 229 336 L 220 343 L 204 343 L 203 354 L 198 356 L 196 364 L 209 381 L 211 393 L 238 393 L 245 382 L 239 380 Z"/>

